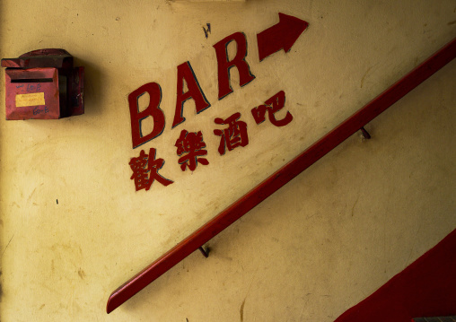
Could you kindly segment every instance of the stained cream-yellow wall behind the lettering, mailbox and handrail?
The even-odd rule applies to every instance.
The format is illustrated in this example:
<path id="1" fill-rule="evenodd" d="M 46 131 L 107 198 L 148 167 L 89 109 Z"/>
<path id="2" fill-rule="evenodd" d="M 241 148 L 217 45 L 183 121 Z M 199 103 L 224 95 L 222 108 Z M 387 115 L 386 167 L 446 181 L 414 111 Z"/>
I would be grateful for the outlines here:
<path id="1" fill-rule="evenodd" d="M 456 227 L 456 62 L 109 316 L 114 289 L 373 99 L 456 34 L 443 1 L 17 1 L 0 4 L 1 57 L 65 48 L 84 65 L 85 114 L 0 113 L 2 321 L 333 321 Z M 310 22 L 259 63 L 277 13 Z M 211 23 L 205 38 L 202 26 Z M 217 100 L 217 41 L 243 31 L 256 79 Z M 176 66 L 211 108 L 171 130 Z M 237 74 L 232 73 L 236 80 Z M 0 77 L 4 101 L 4 70 Z M 163 135 L 133 150 L 127 95 L 162 86 Z M 286 93 L 294 120 L 250 109 Z M 240 111 L 250 144 L 218 155 L 215 117 Z M 202 130 L 210 164 L 182 172 L 174 143 Z M 130 158 L 157 149 L 169 187 L 135 192 Z M 57 204 L 58 200 L 58 204 Z"/>

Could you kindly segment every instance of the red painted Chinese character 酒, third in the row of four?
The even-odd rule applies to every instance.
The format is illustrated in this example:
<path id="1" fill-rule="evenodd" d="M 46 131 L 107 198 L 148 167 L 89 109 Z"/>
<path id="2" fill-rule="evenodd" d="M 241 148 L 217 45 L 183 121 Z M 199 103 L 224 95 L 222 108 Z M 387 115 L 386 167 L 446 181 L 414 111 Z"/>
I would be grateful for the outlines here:
<path id="1" fill-rule="evenodd" d="M 218 152 L 220 155 L 224 155 L 225 145 L 228 151 L 232 151 L 237 146 L 246 146 L 249 144 L 249 136 L 247 135 L 247 124 L 242 121 L 238 121 L 241 117 L 241 113 L 234 113 L 231 117 L 225 120 L 217 117 L 215 118 L 215 124 L 227 125 L 228 128 L 224 130 L 214 130 L 215 135 L 221 136 L 220 145 L 218 146 Z"/>

